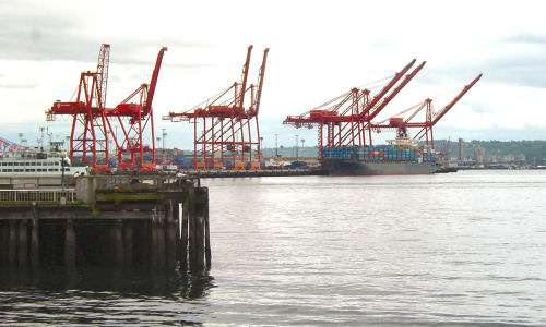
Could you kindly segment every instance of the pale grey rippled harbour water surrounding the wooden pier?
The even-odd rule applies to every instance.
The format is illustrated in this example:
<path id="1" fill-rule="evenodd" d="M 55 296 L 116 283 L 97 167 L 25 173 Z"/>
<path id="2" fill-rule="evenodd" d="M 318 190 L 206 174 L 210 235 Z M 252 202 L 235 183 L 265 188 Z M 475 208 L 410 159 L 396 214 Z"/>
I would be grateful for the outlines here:
<path id="1" fill-rule="evenodd" d="M 546 325 L 546 171 L 203 180 L 213 267 L 3 271 L 3 325 Z"/>

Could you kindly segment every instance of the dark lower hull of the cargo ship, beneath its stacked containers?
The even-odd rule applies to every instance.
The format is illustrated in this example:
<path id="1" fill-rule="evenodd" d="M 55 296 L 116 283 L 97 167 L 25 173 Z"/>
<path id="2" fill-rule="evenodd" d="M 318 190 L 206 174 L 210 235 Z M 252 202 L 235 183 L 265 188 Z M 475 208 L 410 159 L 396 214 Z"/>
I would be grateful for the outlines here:
<path id="1" fill-rule="evenodd" d="M 321 164 L 330 175 L 429 174 L 439 169 L 435 162 L 429 161 L 364 161 L 349 158 L 324 158 Z"/>

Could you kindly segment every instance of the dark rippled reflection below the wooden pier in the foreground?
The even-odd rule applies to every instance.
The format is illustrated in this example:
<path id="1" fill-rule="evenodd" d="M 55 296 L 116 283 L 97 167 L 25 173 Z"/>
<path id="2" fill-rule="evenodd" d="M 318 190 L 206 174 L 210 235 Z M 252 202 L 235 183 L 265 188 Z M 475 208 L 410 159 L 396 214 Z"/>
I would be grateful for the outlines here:
<path id="1" fill-rule="evenodd" d="M 2 324 L 200 325 L 209 271 L 0 268 Z M 54 318 L 55 317 L 55 318 Z"/>

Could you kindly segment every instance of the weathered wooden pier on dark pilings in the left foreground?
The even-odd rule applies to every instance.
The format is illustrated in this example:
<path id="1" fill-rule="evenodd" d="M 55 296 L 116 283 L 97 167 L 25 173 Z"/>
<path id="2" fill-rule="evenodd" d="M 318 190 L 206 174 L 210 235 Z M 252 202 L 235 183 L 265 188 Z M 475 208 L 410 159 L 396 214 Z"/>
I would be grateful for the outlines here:
<path id="1" fill-rule="evenodd" d="M 207 269 L 209 190 L 197 178 L 158 175 L 0 190 L 0 265 Z"/>

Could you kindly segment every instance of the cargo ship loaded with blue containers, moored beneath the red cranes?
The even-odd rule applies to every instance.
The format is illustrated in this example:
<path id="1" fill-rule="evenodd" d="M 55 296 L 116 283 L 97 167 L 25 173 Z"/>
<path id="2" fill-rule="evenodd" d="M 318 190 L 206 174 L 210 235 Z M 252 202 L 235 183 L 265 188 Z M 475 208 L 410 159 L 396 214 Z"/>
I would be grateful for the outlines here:
<path id="1" fill-rule="evenodd" d="M 320 162 L 330 175 L 429 174 L 441 168 L 431 149 L 408 138 L 384 146 L 322 148 Z"/>

